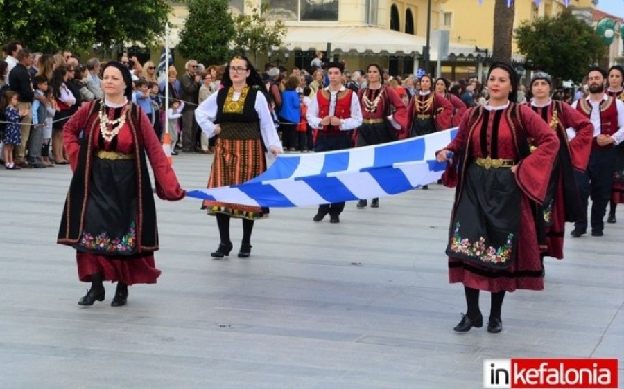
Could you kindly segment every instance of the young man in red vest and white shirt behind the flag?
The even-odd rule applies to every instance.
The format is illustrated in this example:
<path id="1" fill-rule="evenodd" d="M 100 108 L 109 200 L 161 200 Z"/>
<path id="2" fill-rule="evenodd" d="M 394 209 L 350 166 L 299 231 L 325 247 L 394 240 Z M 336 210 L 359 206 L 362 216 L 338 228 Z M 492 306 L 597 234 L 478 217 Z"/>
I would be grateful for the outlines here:
<path id="1" fill-rule="evenodd" d="M 343 71 L 343 64 L 327 64 L 329 86 L 315 93 L 308 108 L 308 123 L 312 128 L 318 129 L 315 152 L 348 149 L 351 147 L 352 130 L 362 124 L 357 93 L 341 84 Z M 329 213 L 331 223 L 340 223 L 340 212 L 344 209 L 344 201 L 321 204 L 313 220 L 321 221 Z"/>

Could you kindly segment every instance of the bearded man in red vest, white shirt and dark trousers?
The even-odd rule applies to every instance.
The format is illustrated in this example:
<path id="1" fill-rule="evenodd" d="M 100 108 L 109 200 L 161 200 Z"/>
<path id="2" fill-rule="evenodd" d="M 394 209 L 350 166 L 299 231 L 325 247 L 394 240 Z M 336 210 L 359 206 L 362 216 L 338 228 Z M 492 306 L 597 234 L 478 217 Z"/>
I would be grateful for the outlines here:
<path id="1" fill-rule="evenodd" d="M 587 199 L 591 196 L 591 235 L 603 236 L 603 218 L 611 198 L 615 170 L 615 146 L 624 141 L 624 102 L 605 93 L 607 72 L 589 69 L 589 96 L 573 102 L 572 107 L 587 116 L 593 125 L 593 141 L 587 171 L 575 171 L 575 179 L 585 218 L 575 222 L 572 237 L 587 233 Z"/>

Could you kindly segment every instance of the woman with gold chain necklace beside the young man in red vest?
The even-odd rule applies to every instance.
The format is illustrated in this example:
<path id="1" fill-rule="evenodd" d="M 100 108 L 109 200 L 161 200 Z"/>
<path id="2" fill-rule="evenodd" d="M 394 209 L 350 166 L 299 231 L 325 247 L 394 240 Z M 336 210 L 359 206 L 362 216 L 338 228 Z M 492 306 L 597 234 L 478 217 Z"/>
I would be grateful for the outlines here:
<path id="1" fill-rule="evenodd" d="M 407 108 L 394 88 L 383 84 L 383 70 L 379 64 L 367 69 L 367 87 L 358 91 L 362 110 L 362 125 L 357 131 L 357 145 L 380 145 L 396 141 L 399 132 L 406 129 Z M 365 208 L 367 200 L 358 201 L 358 208 Z M 379 207 L 379 199 L 372 199 L 372 208 Z"/>

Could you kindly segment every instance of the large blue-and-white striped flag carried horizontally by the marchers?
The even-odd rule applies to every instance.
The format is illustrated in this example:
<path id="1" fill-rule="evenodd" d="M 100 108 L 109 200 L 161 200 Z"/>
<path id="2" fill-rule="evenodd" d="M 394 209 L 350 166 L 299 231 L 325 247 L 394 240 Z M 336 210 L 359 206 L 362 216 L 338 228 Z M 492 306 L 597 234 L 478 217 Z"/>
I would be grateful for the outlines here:
<path id="1" fill-rule="evenodd" d="M 266 172 L 237 186 L 191 190 L 187 196 L 263 207 L 312 206 L 399 194 L 440 179 L 435 152 L 457 129 L 404 141 L 313 154 L 281 154 Z"/>

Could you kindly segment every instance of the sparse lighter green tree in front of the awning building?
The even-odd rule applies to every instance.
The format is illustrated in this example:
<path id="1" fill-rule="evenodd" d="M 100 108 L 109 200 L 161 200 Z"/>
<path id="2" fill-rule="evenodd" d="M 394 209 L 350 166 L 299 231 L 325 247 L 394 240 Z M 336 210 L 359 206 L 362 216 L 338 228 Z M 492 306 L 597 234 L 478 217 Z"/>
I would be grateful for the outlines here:
<path id="1" fill-rule="evenodd" d="M 252 6 L 250 1 L 247 2 L 247 6 Z M 281 20 L 269 21 L 262 16 L 267 12 L 268 3 L 264 3 L 260 8 L 252 8 L 251 15 L 241 14 L 234 18 L 236 51 L 253 53 L 254 64 L 257 53 L 266 53 L 272 48 L 281 46 L 288 31 L 288 27 Z"/>

